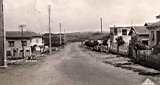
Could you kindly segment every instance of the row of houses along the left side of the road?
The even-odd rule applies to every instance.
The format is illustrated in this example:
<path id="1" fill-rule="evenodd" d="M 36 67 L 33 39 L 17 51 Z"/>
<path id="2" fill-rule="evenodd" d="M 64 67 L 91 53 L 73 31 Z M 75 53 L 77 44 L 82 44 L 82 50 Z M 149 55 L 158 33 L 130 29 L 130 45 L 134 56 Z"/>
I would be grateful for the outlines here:
<path id="1" fill-rule="evenodd" d="M 61 38 L 60 38 L 61 36 Z M 64 45 L 64 34 L 51 34 L 52 47 Z M 49 33 L 38 34 L 31 31 L 6 32 L 6 56 L 8 59 L 24 58 L 48 52 Z"/>

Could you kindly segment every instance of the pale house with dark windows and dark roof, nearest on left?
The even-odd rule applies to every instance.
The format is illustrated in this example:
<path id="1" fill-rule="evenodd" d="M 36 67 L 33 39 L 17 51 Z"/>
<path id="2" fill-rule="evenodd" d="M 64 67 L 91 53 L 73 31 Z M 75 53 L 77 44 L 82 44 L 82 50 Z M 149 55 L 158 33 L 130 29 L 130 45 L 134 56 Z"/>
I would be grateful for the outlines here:
<path id="1" fill-rule="evenodd" d="M 34 32 L 8 31 L 6 32 L 6 55 L 8 59 L 31 56 L 32 47 L 42 44 L 42 37 Z M 37 49 L 34 49 L 37 50 Z"/>

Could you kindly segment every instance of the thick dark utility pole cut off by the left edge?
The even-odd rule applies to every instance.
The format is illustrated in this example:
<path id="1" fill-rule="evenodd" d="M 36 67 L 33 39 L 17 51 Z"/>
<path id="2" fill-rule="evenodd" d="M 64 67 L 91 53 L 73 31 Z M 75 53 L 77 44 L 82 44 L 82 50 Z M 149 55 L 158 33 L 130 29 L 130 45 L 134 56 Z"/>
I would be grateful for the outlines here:
<path id="1" fill-rule="evenodd" d="M 4 28 L 4 13 L 3 13 L 3 0 L 0 0 L 0 67 L 7 67 L 7 57 L 6 57 L 6 36 Z"/>

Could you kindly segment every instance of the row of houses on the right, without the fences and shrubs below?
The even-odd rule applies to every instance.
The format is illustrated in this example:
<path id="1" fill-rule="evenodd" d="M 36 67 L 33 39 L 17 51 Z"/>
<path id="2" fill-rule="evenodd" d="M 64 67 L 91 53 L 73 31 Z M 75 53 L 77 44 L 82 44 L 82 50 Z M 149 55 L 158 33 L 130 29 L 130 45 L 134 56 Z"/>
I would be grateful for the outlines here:
<path id="1" fill-rule="evenodd" d="M 112 41 L 116 43 L 116 38 L 122 36 L 125 44 L 129 45 L 131 35 L 129 32 L 134 28 L 138 40 L 151 48 L 160 45 L 160 21 L 155 23 L 146 23 L 144 26 L 113 26 L 110 27 L 110 33 L 113 33 Z"/>

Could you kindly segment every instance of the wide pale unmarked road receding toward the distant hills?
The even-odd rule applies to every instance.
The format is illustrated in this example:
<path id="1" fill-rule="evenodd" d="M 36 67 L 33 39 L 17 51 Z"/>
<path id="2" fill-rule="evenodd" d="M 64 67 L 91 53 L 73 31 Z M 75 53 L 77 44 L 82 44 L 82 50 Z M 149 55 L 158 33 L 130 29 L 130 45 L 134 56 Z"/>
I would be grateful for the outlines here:
<path id="1" fill-rule="evenodd" d="M 0 85 L 140 85 L 144 77 L 104 64 L 78 43 L 47 56 L 43 62 L 0 71 Z"/>

